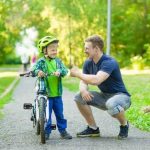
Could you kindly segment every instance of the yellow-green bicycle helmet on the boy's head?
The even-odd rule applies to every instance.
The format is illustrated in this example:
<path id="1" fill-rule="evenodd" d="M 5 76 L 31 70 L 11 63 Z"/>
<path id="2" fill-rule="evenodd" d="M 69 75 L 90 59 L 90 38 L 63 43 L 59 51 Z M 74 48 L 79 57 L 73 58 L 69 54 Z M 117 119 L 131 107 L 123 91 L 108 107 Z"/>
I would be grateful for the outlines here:
<path id="1" fill-rule="evenodd" d="M 50 43 L 59 42 L 59 40 L 53 36 L 45 36 L 38 41 L 37 47 L 40 53 L 43 53 L 43 48 L 48 46 Z"/>

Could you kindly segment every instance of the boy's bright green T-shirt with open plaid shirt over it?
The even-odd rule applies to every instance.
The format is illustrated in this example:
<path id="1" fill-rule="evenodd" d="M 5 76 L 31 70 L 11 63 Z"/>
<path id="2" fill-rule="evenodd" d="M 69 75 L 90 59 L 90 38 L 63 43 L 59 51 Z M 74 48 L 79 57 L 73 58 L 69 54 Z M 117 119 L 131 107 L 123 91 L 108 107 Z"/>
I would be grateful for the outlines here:
<path id="1" fill-rule="evenodd" d="M 38 75 L 38 72 L 42 70 L 44 73 L 51 73 L 55 71 L 60 72 L 60 76 L 49 76 L 45 78 L 45 85 L 47 89 L 48 97 L 56 97 L 62 95 L 62 80 L 68 73 L 68 69 L 62 63 L 59 58 L 54 58 L 49 60 L 45 57 L 40 58 L 37 63 L 33 66 L 32 72 L 35 76 Z"/>

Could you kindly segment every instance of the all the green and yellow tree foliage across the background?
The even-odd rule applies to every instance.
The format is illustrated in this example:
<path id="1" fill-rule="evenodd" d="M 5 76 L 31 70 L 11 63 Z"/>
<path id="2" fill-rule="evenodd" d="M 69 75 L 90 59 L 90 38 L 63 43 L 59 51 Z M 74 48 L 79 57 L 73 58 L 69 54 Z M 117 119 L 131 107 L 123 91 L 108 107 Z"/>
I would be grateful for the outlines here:
<path id="1" fill-rule="evenodd" d="M 137 55 L 149 65 L 149 7 L 150 0 L 112 1 L 111 55 L 121 67 L 128 66 L 130 58 Z M 99 34 L 106 43 L 107 1 L 0 1 L 0 64 L 10 62 L 9 55 L 15 55 L 15 44 L 21 40 L 20 32 L 33 26 L 39 38 L 49 34 L 59 38 L 59 57 L 66 65 L 81 66 L 87 36 Z"/>

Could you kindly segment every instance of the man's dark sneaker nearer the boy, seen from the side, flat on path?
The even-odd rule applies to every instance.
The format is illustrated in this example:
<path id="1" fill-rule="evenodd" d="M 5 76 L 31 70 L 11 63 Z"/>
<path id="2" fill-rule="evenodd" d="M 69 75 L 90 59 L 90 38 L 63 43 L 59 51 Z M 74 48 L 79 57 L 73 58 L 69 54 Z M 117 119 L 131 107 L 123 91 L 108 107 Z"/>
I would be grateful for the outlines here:
<path id="1" fill-rule="evenodd" d="M 89 126 L 87 126 L 87 128 L 84 131 L 77 133 L 77 137 L 99 137 L 99 136 L 100 136 L 99 128 L 94 130 Z"/>

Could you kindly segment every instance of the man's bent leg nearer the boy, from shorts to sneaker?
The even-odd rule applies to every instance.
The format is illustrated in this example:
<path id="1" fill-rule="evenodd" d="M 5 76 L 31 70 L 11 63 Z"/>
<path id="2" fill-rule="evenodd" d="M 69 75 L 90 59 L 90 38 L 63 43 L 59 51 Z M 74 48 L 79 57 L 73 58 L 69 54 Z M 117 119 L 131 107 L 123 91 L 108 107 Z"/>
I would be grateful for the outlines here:
<path id="1" fill-rule="evenodd" d="M 88 127 L 84 131 L 77 133 L 78 137 L 100 136 L 100 131 L 99 131 L 99 128 L 96 126 L 96 122 L 95 122 L 90 105 L 98 107 L 98 108 L 104 108 L 105 99 L 98 92 L 91 91 L 91 93 L 92 95 L 94 95 L 94 97 L 92 101 L 90 102 L 84 101 L 80 93 L 78 93 L 75 96 L 75 102 L 77 104 L 77 107 L 88 124 Z"/>

